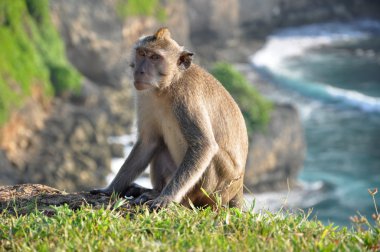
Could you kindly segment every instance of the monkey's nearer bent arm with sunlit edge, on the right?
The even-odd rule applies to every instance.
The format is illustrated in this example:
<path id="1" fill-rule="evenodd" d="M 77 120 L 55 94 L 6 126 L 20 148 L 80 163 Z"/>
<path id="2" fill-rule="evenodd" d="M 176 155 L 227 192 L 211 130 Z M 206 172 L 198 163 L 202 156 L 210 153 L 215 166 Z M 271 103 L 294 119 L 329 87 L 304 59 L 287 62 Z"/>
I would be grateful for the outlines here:
<path id="1" fill-rule="evenodd" d="M 200 180 L 219 148 L 205 109 L 178 104 L 175 114 L 188 143 L 188 149 L 171 181 L 160 196 L 150 203 L 152 208 L 164 207 L 171 201 L 181 202 Z"/>

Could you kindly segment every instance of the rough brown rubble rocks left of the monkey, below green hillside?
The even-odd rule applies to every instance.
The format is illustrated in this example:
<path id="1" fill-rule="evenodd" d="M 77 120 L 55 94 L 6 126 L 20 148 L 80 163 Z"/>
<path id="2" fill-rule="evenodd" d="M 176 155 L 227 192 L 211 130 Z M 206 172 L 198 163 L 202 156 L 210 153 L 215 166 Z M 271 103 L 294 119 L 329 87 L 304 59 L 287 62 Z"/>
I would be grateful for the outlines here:
<path id="1" fill-rule="evenodd" d="M 18 136 L 17 142 L 28 143 L 25 148 L 5 149 L 0 183 L 43 183 L 66 191 L 105 185 L 112 158 L 108 137 L 128 131 L 133 118 L 133 109 L 118 103 L 125 94 L 107 92 L 84 80 L 82 93 L 72 101 L 56 99 L 41 127 Z"/>

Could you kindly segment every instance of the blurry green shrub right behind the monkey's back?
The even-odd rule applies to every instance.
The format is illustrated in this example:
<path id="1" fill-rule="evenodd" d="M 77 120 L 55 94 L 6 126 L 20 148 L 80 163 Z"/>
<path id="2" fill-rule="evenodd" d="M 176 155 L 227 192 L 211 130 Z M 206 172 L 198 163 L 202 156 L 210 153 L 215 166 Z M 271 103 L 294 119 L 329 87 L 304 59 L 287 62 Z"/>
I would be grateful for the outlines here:
<path id="1" fill-rule="evenodd" d="M 251 135 L 255 130 L 265 129 L 270 119 L 272 103 L 262 97 L 243 75 L 227 63 L 215 64 L 211 73 L 239 105 L 248 134 Z"/>

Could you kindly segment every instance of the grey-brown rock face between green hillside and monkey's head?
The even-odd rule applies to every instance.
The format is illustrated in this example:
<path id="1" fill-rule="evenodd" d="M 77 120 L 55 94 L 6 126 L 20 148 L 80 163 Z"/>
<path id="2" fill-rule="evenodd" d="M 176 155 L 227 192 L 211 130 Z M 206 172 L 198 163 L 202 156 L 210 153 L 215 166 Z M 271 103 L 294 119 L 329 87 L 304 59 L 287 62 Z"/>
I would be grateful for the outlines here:
<path id="1" fill-rule="evenodd" d="M 51 13 L 72 64 L 97 85 L 120 87 L 128 58 L 112 1 L 54 0 Z"/>

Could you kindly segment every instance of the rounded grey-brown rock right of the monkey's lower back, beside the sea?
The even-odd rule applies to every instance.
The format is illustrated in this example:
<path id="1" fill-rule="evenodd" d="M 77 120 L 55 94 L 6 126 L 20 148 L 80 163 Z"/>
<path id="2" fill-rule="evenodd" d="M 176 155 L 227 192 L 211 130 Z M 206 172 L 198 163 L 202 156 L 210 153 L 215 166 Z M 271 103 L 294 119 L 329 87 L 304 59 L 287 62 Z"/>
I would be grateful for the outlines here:
<path id="1" fill-rule="evenodd" d="M 297 185 L 305 153 L 297 110 L 276 104 L 269 125 L 250 140 L 244 184 L 251 192 L 287 189 Z"/>

